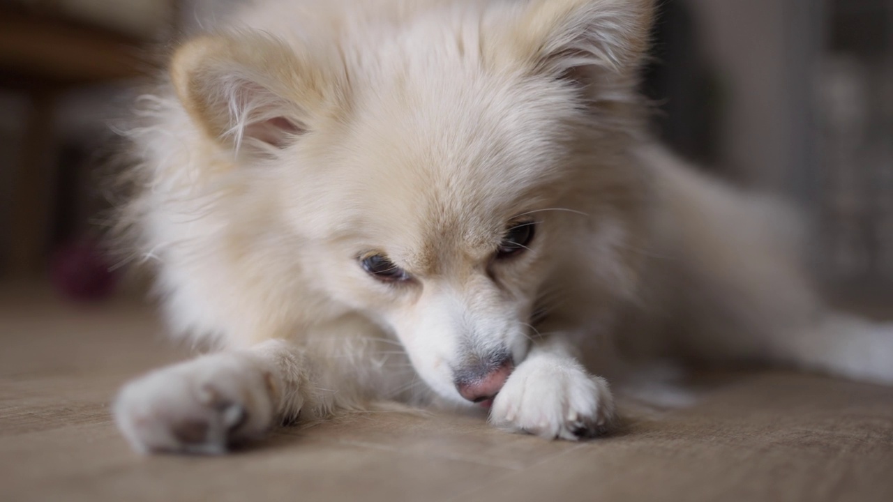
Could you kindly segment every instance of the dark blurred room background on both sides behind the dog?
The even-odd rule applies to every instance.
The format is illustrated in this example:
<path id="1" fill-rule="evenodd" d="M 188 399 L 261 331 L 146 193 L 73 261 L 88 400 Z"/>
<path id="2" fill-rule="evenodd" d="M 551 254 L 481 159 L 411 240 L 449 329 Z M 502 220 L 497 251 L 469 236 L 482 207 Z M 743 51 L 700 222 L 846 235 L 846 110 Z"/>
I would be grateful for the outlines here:
<path id="1" fill-rule="evenodd" d="M 108 119 L 158 71 L 152 54 L 229 3 L 0 0 L 0 280 L 112 291 L 95 240 Z M 643 84 L 658 134 L 719 177 L 794 200 L 830 291 L 889 297 L 893 0 L 661 4 Z"/>

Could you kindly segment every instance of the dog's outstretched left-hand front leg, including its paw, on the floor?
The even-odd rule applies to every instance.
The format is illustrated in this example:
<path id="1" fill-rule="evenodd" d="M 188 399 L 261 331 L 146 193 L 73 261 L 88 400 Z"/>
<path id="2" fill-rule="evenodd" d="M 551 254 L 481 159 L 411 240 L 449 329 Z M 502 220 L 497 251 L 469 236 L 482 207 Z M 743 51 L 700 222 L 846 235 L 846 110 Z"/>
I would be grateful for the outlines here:
<path id="1" fill-rule="evenodd" d="M 375 340 L 320 337 L 298 346 L 272 339 L 175 364 L 121 389 L 115 419 L 143 453 L 221 454 L 298 415 L 324 418 L 387 390 L 405 364 L 389 371 Z"/>

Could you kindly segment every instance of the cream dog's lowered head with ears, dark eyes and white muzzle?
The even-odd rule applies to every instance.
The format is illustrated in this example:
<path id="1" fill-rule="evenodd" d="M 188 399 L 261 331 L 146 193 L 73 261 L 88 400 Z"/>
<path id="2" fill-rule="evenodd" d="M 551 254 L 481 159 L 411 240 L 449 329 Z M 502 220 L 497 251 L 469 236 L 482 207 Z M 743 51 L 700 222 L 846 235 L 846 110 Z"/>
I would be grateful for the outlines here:
<path id="1" fill-rule="evenodd" d="M 271 208 L 280 235 L 254 246 L 297 243 L 306 288 L 393 330 L 440 395 L 477 401 L 526 355 L 569 248 L 597 261 L 630 231 L 651 2 L 417 4 L 300 37 L 198 38 L 171 74 L 263 197 L 252 210 Z M 624 268 L 606 260 L 580 266 Z"/>

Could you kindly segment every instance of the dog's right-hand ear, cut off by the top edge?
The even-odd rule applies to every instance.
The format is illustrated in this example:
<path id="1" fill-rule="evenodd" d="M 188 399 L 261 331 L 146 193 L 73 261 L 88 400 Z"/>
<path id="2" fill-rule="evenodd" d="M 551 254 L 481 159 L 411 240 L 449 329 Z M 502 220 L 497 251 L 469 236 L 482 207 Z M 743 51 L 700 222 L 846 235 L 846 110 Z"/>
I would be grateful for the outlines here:
<path id="1" fill-rule="evenodd" d="M 635 78 L 647 50 L 654 0 L 527 0 L 498 40 L 533 71 L 571 79 Z"/>

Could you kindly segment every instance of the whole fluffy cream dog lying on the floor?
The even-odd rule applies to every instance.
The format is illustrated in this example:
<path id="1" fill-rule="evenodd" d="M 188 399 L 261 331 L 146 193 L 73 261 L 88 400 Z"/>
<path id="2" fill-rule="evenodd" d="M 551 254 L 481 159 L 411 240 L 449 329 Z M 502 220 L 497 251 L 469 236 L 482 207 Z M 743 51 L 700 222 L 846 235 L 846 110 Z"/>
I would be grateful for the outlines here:
<path id="1" fill-rule="evenodd" d="M 127 383 L 139 452 L 220 454 L 396 400 L 610 431 L 638 361 L 893 382 L 789 208 L 655 143 L 652 0 L 265 0 L 179 44 L 121 212 L 181 339 Z M 481 412 L 483 413 L 483 412 Z"/>

